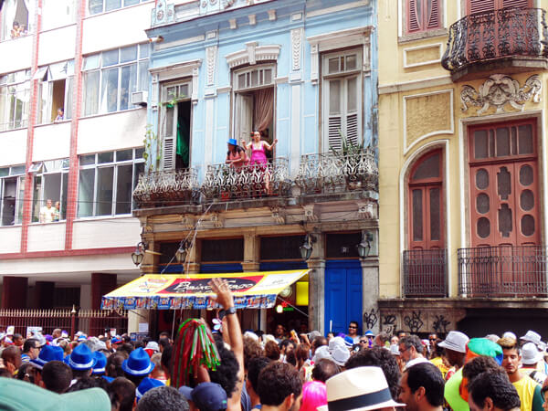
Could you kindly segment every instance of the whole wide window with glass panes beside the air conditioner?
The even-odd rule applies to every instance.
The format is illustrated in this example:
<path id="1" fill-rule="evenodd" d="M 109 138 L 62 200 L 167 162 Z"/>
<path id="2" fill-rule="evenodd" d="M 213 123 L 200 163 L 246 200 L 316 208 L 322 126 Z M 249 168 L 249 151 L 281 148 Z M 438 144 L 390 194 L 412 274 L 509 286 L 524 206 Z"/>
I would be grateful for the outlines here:
<path id="1" fill-rule="evenodd" d="M 132 92 L 148 90 L 148 43 L 84 58 L 84 115 L 132 109 Z"/>

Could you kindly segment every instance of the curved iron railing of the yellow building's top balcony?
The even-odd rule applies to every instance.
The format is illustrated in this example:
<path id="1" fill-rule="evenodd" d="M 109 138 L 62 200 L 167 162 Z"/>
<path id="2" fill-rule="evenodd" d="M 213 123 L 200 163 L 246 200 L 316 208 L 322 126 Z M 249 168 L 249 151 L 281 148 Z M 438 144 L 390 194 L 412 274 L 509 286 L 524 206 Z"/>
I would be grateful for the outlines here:
<path id="1" fill-rule="evenodd" d="M 451 71 L 476 62 L 546 58 L 548 30 L 541 8 L 502 8 L 465 16 L 449 28 L 441 65 Z"/>

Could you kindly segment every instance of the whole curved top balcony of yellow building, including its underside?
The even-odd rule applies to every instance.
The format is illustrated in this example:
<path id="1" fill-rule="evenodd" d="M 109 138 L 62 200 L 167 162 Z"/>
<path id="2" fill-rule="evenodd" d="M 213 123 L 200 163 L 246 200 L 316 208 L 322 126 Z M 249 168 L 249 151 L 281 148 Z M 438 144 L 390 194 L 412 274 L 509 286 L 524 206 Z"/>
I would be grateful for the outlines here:
<path id="1" fill-rule="evenodd" d="M 509 7 L 465 16 L 450 26 L 441 64 L 453 81 L 493 70 L 507 74 L 548 68 L 545 15 L 540 8 Z"/>

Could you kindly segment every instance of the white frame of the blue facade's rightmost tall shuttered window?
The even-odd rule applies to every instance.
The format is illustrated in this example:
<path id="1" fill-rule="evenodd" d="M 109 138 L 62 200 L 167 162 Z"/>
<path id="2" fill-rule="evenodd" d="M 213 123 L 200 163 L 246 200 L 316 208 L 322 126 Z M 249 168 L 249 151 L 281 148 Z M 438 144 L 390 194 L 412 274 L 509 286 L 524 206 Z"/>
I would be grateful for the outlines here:
<path id="1" fill-rule="evenodd" d="M 355 68 L 346 69 L 340 64 L 337 72 L 329 72 L 329 61 L 332 58 L 339 58 L 346 61 L 346 58 L 350 56 L 355 56 Z M 364 139 L 364 130 L 363 130 L 363 107 L 364 107 L 364 81 L 363 81 L 363 66 L 362 61 L 362 49 L 360 48 L 351 48 L 343 51 L 329 52 L 321 55 L 321 149 L 323 153 L 328 153 L 331 149 L 340 150 L 342 147 L 342 136 L 348 138 L 348 142 L 352 141 L 353 143 L 360 144 Z M 356 116 L 357 116 L 357 136 L 356 139 L 353 139 L 352 136 L 348 135 L 347 122 L 344 121 L 345 118 L 352 115 L 349 114 L 347 110 L 348 106 L 348 80 L 356 79 Z M 339 137 L 341 138 L 340 144 L 331 144 L 330 140 L 336 138 L 333 131 L 330 132 L 330 81 L 340 80 L 342 84 L 341 90 L 341 128 Z M 337 132 L 338 133 L 338 132 Z M 332 134 L 332 135 L 331 135 Z M 330 136 L 332 137 L 330 139 Z"/>

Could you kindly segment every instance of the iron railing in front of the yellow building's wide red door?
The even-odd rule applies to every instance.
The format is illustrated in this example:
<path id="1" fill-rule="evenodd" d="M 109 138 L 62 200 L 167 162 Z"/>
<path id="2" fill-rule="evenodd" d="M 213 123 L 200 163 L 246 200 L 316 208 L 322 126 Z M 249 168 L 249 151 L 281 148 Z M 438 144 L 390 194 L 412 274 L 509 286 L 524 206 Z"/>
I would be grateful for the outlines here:
<path id="1" fill-rule="evenodd" d="M 548 297 L 548 248 L 460 248 L 458 288 L 465 297 Z"/>

